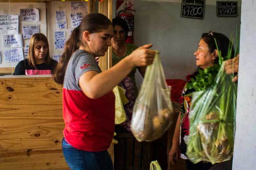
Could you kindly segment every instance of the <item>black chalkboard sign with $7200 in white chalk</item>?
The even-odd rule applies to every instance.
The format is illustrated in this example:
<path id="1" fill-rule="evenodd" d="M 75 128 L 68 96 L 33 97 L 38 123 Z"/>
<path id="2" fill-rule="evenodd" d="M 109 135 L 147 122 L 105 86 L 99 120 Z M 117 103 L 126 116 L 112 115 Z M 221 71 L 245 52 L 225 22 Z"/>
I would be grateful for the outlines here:
<path id="1" fill-rule="evenodd" d="M 181 17 L 204 19 L 205 0 L 182 0 Z"/>

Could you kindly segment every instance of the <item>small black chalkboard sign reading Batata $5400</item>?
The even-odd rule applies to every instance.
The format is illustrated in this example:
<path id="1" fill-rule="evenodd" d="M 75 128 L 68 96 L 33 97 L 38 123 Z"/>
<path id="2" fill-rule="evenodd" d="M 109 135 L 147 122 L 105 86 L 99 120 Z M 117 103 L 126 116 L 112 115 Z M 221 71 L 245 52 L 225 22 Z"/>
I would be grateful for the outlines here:
<path id="1" fill-rule="evenodd" d="M 238 16 L 237 1 L 217 1 L 218 16 Z"/>

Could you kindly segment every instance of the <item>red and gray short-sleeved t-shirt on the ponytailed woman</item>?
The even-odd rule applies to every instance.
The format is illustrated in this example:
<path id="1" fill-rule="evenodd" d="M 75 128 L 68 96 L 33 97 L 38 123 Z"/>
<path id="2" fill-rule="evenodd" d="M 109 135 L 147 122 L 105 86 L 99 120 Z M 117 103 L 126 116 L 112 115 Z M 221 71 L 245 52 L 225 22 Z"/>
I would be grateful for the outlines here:
<path id="1" fill-rule="evenodd" d="M 87 71 L 101 72 L 94 57 L 76 50 L 70 58 L 64 78 L 64 137 L 76 149 L 99 152 L 110 146 L 115 128 L 113 91 L 98 98 L 88 98 L 79 87 L 79 78 Z M 99 89 L 101 90 L 101 89 Z"/>

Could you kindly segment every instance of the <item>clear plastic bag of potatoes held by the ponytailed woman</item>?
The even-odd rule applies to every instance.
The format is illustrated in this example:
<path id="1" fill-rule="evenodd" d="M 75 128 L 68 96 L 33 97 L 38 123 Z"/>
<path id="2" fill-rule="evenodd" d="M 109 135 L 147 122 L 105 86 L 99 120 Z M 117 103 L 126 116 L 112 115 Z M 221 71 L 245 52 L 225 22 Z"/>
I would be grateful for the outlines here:
<path id="1" fill-rule="evenodd" d="M 147 67 L 132 113 L 131 131 L 138 141 L 161 137 L 173 122 L 170 87 L 165 82 L 158 52 Z"/>

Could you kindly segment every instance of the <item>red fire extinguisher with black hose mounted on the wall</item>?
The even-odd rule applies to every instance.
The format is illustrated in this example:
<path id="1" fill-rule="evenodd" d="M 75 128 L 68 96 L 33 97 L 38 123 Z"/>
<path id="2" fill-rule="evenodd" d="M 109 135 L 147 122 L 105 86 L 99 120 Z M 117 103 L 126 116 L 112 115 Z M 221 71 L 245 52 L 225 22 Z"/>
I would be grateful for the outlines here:
<path id="1" fill-rule="evenodd" d="M 130 9 L 131 6 L 127 6 L 124 10 L 118 12 L 117 16 L 123 18 L 128 25 L 128 36 L 125 42 L 134 43 L 133 33 L 134 33 L 134 15 L 128 11 L 135 11 Z M 121 13 L 122 12 L 122 13 Z M 135 11 L 136 12 L 136 11 Z M 121 14 L 120 14 L 121 13 Z"/>

